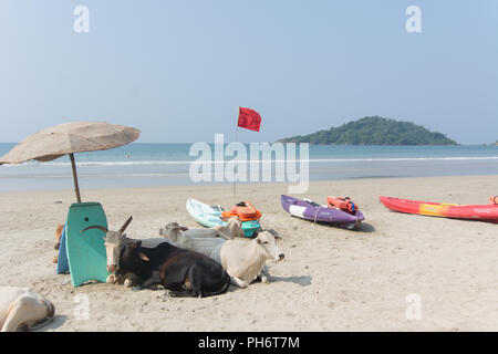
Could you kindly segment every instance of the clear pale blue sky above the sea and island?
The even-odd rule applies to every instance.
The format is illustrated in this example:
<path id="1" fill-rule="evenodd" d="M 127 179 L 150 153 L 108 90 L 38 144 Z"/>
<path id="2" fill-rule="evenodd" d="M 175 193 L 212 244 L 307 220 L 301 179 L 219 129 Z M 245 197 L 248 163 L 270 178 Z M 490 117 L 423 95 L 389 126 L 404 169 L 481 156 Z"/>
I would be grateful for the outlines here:
<path id="1" fill-rule="evenodd" d="M 242 106 L 262 116 L 242 142 L 380 115 L 491 143 L 497 40 L 496 0 L 2 0 L 0 142 L 73 121 L 134 126 L 142 143 L 232 140 Z"/>

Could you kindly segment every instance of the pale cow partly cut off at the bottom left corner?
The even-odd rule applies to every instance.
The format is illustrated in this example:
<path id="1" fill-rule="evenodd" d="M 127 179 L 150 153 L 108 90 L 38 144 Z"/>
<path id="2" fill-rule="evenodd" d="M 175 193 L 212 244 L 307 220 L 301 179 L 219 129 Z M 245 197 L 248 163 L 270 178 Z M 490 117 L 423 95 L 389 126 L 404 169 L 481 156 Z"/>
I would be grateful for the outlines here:
<path id="1" fill-rule="evenodd" d="M 0 287 L 1 332 L 37 330 L 49 323 L 55 308 L 28 288 Z"/>

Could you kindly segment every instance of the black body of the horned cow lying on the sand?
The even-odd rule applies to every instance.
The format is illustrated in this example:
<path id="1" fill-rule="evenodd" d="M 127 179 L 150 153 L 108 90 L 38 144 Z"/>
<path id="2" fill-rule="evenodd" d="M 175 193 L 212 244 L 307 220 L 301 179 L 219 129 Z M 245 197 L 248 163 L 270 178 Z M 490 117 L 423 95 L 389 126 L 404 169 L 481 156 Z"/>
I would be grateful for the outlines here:
<path id="1" fill-rule="evenodd" d="M 155 248 L 141 244 L 126 242 L 118 272 L 137 274 L 145 280 L 144 288 L 162 284 L 167 290 L 203 298 L 224 293 L 230 287 L 230 277 L 222 267 L 204 254 L 167 242 Z"/>

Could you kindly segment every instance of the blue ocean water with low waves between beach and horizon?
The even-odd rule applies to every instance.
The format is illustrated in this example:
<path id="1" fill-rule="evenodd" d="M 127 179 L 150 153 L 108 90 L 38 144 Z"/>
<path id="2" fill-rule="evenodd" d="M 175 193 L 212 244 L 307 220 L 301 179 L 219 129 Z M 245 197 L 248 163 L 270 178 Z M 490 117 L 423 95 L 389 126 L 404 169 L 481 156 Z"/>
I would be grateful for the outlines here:
<path id="1" fill-rule="evenodd" d="M 0 143 L 0 156 L 13 146 Z M 133 143 L 110 150 L 75 154 L 80 188 L 229 184 L 227 180 L 193 181 L 189 168 L 198 156 L 189 155 L 190 146 Z M 246 147 L 249 150 L 249 145 Z M 226 156 L 225 162 L 231 158 Z M 262 171 L 263 165 L 260 166 Z M 272 176 L 276 176 L 274 167 L 273 156 Z M 310 145 L 309 148 L 310 180 L 464 175 L 498 175 L 498 146 Z M 46 189 L 73 189 L 68 156 L 48 163 L 0 166 L 0 191 Z"/>

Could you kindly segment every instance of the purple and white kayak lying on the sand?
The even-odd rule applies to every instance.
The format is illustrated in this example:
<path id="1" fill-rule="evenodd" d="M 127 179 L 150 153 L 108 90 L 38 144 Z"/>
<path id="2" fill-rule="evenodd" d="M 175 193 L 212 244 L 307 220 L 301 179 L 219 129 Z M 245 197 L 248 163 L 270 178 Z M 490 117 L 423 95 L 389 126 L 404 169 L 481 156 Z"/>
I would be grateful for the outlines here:
<path id="1" fill-rule="evenodd" d="M 341 228 L 356 229 L 365 219 L 360 210 L 349 214 L 340 209 L 321 206 L 308 199 L 298 199 L 284 195 L 280 200 L 283 209 L 290 215 L 314 222 L 326 222 Z"/>

